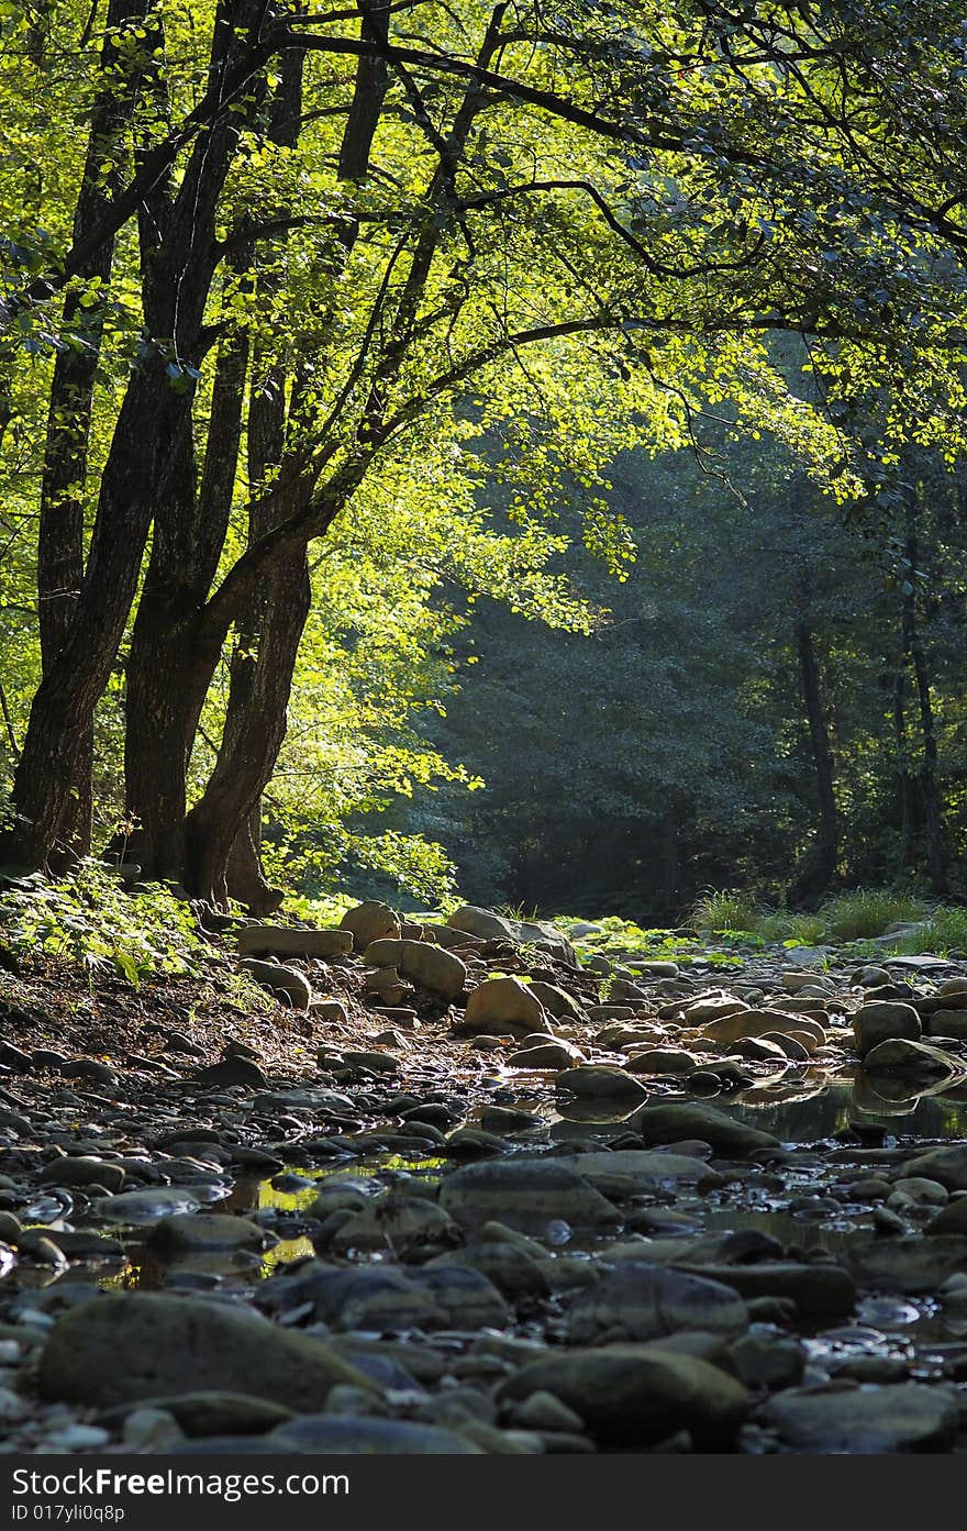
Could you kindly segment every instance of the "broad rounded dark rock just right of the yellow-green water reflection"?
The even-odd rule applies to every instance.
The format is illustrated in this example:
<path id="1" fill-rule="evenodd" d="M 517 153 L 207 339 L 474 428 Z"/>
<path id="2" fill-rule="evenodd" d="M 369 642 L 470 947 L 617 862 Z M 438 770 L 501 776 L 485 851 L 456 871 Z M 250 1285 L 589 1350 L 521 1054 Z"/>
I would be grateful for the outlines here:
<path id="1" fill-rule="evenodd" d="M 499 1219 L 526 1229 L 563 1219 L 577 1228 L 614 1228 L 620 1222 L 610 1202 L 554 1159 L 465 1165 L 447 1176 L 439 1203 L 464 1225 Z"/>

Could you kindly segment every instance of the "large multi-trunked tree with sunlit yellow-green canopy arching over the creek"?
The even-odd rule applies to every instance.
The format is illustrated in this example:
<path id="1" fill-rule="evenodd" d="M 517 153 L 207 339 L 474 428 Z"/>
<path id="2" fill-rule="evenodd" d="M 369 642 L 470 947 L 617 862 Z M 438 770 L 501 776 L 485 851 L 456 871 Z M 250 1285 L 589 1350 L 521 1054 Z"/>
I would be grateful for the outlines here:
<path id="1" fill-rule="evenodd" d="M 5 854 L 44 862 L 69 842 L 78 750 L 135 609 L 136 854 L 223 900 L 285 735 L 306 550 L 401 464 L 418 478 L 441 436 L 464 455 L 470 426 L 477 441 L 516 438 L 505 478 L 526 524 L 562 473 L 592 481 L 618 438 L 678 444 L 704 401 L 730 395 L 848 496 L 869 464 L 790 393 L 762 338 L 802 329 L 846 390 L 907 358 L 900 403 L 915 397 L 921 436 L 939 439 L 962 328 L 946 158 L 962 118 L 959 21 L 932 8 L 910 73 L 872 5 L 151 12 L 107 205 L 61 248 L 34 230 L 11 257 L 28 276 L 3 317 L 24 344 L 83 340 L 70 305 L 112 240 L 125 260 L 96 291 L 116 302 L 135 283 L 136 305 L 98 338 L 130 371 L 93 423 L 106 449 L 84 579 L 32 700 Z M 75 26 L 55 8 L 55 34 Z M 15 83 L 31 54 L 20 17 L 5 28 Z M 119 112 L 106 73 L 92 70 L 90 112 L 109 98 Z M 266 378 L 275 447 L 259 456 Z M 938 404 L 929 426 L 924 401 Z M 584 534 L 620 556 L 621 528 L 589 498 Z M 187 813 L 233 626 L 236 701 Z"/>

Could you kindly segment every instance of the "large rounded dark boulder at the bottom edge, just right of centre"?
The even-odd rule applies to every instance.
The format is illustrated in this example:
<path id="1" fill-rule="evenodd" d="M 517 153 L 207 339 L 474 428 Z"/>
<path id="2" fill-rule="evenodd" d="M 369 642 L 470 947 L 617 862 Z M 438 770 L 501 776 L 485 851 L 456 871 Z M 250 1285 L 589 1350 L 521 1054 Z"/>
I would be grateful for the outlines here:
<path id="1" fill-rule="evenodd" d="M 647 1344 L 600 1346 L 551 1355 L 508 1379 L 500 1399 L 551 1393 L 603 1445 L 635 1447 L 689 1430 L 699 1448 L 725 1447 L 748 1413 L 733 1376 L 692 1355 Z"/>

